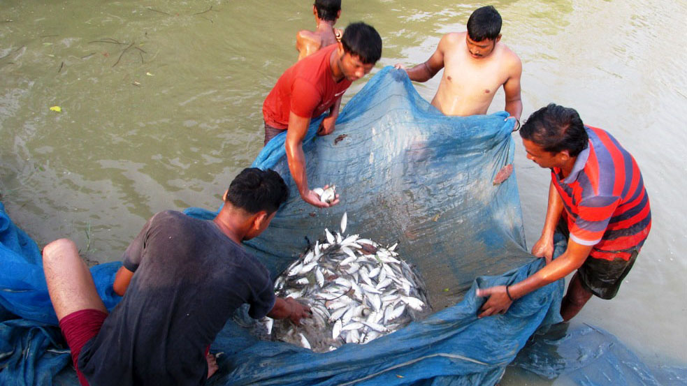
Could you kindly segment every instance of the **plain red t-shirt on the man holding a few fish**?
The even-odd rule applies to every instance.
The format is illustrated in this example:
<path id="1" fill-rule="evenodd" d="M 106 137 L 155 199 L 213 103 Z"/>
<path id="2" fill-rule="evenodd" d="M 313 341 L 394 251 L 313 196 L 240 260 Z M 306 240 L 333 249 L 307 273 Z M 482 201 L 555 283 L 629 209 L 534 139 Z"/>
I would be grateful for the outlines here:
<path id="1" fill-rule="evenodd" d="M 277 80 L 262 106 L 265 123 L 274 128 L 289 126 L 289 113 L 314 118 L 329 110 L 351 82 L 332 79 L 329 57 L 338 45 L 330 45 L 289 67 Z"/>

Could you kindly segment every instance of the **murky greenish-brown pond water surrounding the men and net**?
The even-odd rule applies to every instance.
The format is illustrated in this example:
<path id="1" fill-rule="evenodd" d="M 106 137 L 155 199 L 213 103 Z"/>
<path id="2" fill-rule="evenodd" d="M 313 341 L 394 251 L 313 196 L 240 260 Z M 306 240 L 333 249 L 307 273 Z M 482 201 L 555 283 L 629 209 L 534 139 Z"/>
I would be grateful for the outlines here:
<path id="1" fill-rule="evenodd" d="M 377 28 L 384 52 L 376 71 L 424 61 L 481 5 L 347 0 L 339 25 Z M 619 295 L 592 299 L 577 320 L 619 336 L 649 364 L 684 366 L 687 3 L 494 5 L 502 41 L 523 60 L 523 117 L 552 101 L 575 107 L 635 156 L 651 197 L 653 229 Z M 89 260 L 104 262 L 118 260 L 156 211 L 219 207 L 229 181 L 261 149 L 261 105 L 296 59 L 296 31 L 313 27 L 309 1 L 3 0 L 0 193 L 8 213 L 39 244 L 70 237 Z M 417 89 L 431 99 L 439 80 Z M 531 244 L 549 173 L 514 139 Z M 525 382 L 550 384 L 507 373 L 502 385 Z"/>

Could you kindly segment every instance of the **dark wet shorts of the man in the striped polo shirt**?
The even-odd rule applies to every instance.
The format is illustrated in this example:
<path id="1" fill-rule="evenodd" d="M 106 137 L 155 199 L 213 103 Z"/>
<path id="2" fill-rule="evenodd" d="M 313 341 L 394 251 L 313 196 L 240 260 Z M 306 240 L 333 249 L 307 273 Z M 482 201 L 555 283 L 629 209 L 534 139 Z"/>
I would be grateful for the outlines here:
<path id="1" fill-rule="evenodd" d="M 558 221 L 556 231 L 560 232 L 567 242 L 570 232 L 567 230 L 565 221 Z M 628 276 L 630 269 L 632 269 L 632 265 L 635 265 L 638 254 L 639 251 L 635 249 L 628 260 L 622 258 L 605 260 L 588 256 L 584 260 L 584 264 L 577 269 L 582 286 L 601 299 L 613 299 L 618 293 L 623 279 Z"/>

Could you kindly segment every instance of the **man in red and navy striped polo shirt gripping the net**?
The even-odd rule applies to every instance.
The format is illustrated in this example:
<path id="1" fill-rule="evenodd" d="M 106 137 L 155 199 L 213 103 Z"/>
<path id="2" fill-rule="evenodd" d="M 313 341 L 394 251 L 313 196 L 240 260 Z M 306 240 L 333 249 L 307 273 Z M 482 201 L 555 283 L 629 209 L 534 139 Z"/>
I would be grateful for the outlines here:
<path id="1" fill-rule="evenodd" d="M 635 158 L 571 108 L 542 107 L 520 136 L 527 158 L 551 169 L 544 230 L 532 248 L 547 265 L 519 283 L 478 290 L 489 297 L 479 317 L 504 313 L 514 299 L 577 269 L 561 304 L 567 321 L 591 295 L 612 299 L 618 292 L 651 229 L 649 196 Z M 567 235 L 567 249 L 551 261 L 557 229 Z"/>

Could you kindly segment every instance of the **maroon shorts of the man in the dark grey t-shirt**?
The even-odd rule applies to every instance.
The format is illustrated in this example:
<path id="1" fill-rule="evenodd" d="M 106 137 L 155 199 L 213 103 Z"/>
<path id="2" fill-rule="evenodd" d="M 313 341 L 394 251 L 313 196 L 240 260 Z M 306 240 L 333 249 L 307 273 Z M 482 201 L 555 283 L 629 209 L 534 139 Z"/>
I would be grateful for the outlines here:
<path id="1" fill-rule="evenodd" d="M 88 381 L 79 370 L 78 361 L 81 348 L 100 331 L 108 314 L 94 309 L 70 313 L 59 321 L 59 328 L 71 350 L 71 360 L 82 386 L 89 386 Z"/>

